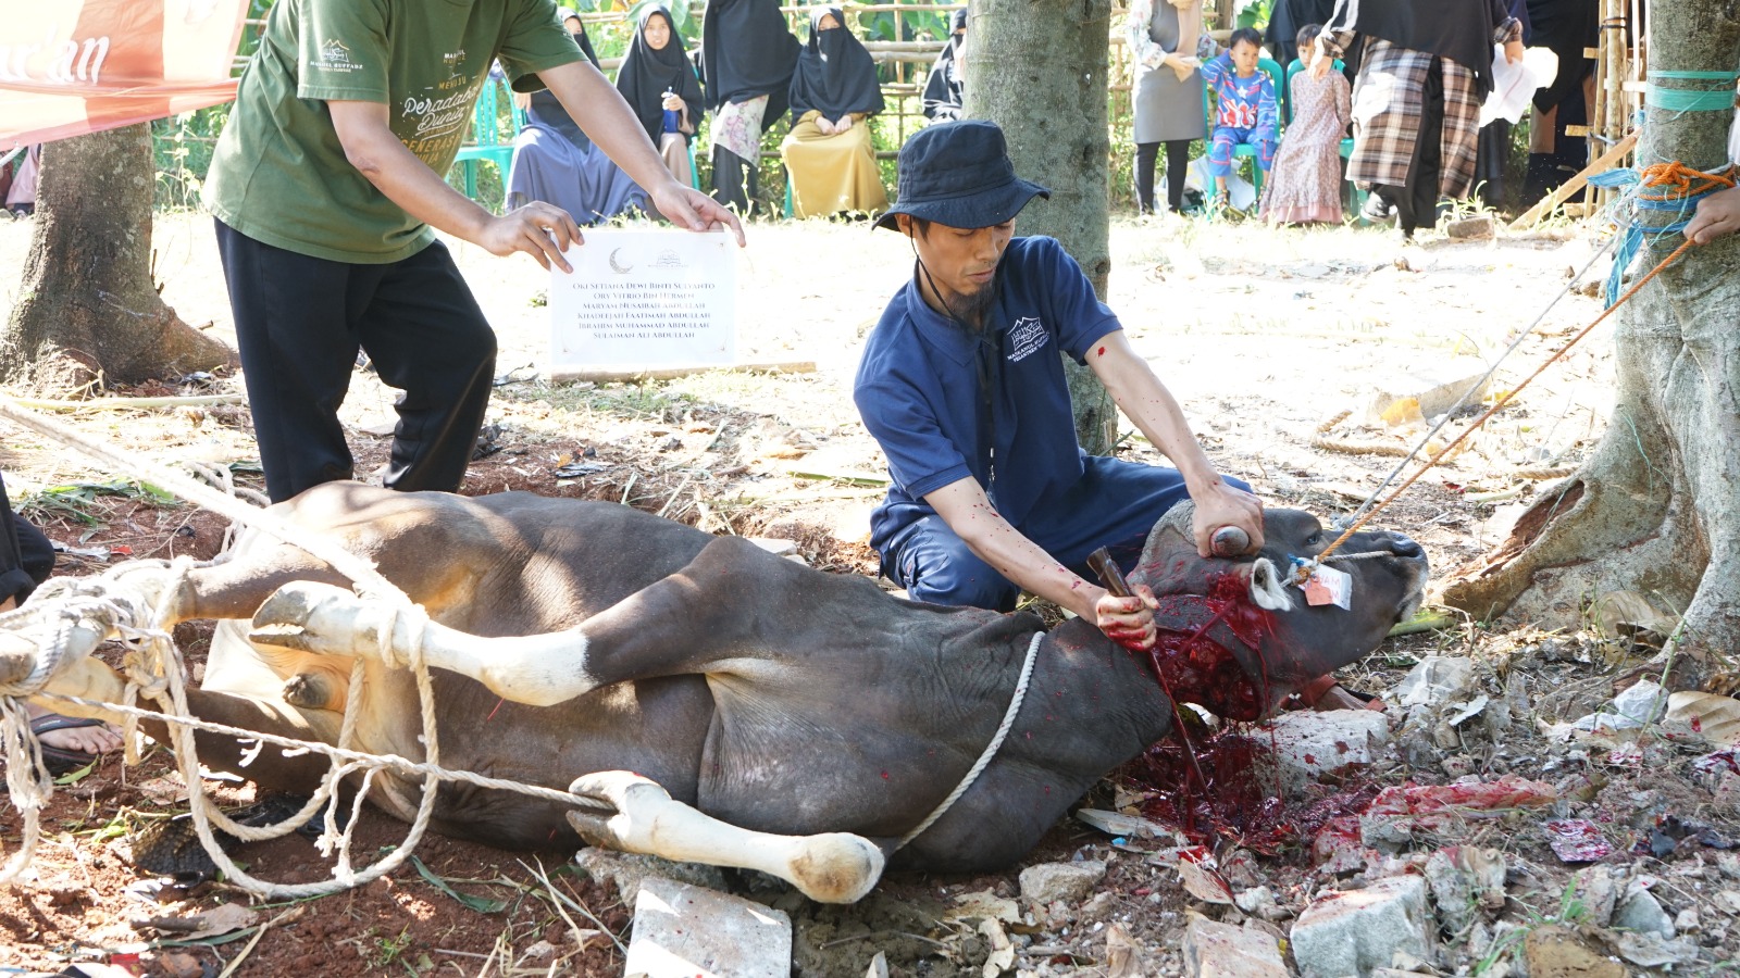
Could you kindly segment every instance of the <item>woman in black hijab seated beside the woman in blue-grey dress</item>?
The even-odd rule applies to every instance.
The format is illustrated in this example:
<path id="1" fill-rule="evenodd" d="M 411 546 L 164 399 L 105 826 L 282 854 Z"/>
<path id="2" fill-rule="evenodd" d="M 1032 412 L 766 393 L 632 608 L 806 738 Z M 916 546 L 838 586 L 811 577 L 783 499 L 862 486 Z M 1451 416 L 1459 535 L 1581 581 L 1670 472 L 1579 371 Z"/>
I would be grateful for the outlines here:
<path id="1" fill-rule="evenodd" d="M 693 183 L 689 139 L 701 111 L 701 82 L 689 64 L 677 23 L 663 5 L 640 14 L 623 66 L 616 70 L 616 90 L 658 146 L 665 169 L 677 183 Z"/>

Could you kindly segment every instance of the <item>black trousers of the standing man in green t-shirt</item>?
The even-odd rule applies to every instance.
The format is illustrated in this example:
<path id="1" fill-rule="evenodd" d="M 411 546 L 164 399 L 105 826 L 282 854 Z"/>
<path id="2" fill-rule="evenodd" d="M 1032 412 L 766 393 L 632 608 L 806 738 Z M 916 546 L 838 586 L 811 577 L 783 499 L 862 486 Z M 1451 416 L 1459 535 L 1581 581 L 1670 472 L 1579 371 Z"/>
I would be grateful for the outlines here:
<path id="1" fill-rule="evenodd" d="M 338 409 L 357 350 L 404 393 L 390 489 L 454 492 L 484 426 L 496 334 L 440 242 L 390 265 L 310 258 L 218 221 L 266 494 L 351 479 Z"/>

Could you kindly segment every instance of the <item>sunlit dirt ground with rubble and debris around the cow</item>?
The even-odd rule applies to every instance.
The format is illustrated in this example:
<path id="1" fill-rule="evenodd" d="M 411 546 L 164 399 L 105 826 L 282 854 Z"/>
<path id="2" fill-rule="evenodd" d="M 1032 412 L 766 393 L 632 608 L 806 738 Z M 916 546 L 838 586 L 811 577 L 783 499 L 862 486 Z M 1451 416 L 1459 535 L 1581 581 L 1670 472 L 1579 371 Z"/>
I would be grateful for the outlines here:
<path id="1" fill-rule="evenodd" d="M 0 268 L 19 268 L 28 245 L 28 224 L 0 224 Z M 740 360 L 814 362 L 814 371 L 713 371 L 647 385 L 546 383 L 545 273 L 524 258 L 451 247 L 501 341 L 489 418 L 498 428 L 466 492 L 531 489 L 612 499 L 715 533 L 788 538 L 828 571 L 875 571 L 865 536 L 868 510 L 882 492 L 882 463 L 858 423 L 851 378 L 865 332 L 910 273 L 912 256 L 898 235 L 820 221 L 752 226 L 740 265 Z M 184 320 L 228 338 L 209 221 L 164 218 L 157 249 L 164 298 Z M 1371 230 L 1121 221 L 1112 252 L 1110 305 L 1183 402 L 1211 458 L 1253 482 L 1270 505 L 1331 517 L 1376 489 L 1399 461 L 1395 452 L 1425 435 L 1427 419 L 1394 400 L 1482 372 L 1573 284 L 1596 242 L 1563 228 L 1402 247 Z M 1597 261 L 1596 273 L 1603 270 Z M 1498 371 L 1489 393 L 1517 383 L 1597 311 L 1583 294 L 1559 301 Z M 1575 466 L 1601 435 L 1611 378 L 1608 324 L 1467 451 L 1422 479 L 1380 524 L 1420 539 L 1439 578 L 1477 557 L 1522 503 L 1550 491 L 1554 473 Z M 165 378 L 130 393 L 188 390 L 179 378 Z M 219 378 L 200 393 L 212 390 L 238 392 L 238 385 Z M 1385 405 L 1387 416 L 1376 411 Z M 231 468 L 240 486 L 259 486 L 245 407 L 56 416 L 148 463 L 212 463 Z M 345 419 L 358 472 L 372 470 L 386 439 L 371 432 L 390 423 L 392 392 L 358 372 Z M 1439 444 L 1462 425 L 1453 421 Z M 14 503 L 77 552 L 59 573 L 94 573 L 125 557 L 207 559 L 219 550 L 221 517 L 141 492 L 129 482 L 137 473 L 103 470 L 35 433 L 0 428 L 0 468 Z M 1159 459 L 1140 437 L 1129 437 L 1121 452 Z M 179 637 L 198 668 L 204 632 L 184 626 Z M 1472 677 L 1448 703 L 1399 705 L 1395 682 L 1430 654 L 1472 660 Z M 1528 778 L 1552 794 L 1524 800 L 1512 794 L 1498 804 L 1463 783 L 1451 816 L 1422 820 L 1382 856 L 1354 853 L 1359 846 L 1336 849 L 1345 825 L 1340 837 L 1319 835 L 1314 854 L 1303 834 L 1258 846 L 1227 834 L 1112 837 L 1065 821 L 1025 865 L 1105 861 L 1107 874 L 1091 896 L 1054 905 L 1016 900 L 1020 867 L 978 879 L 894 875 L 851 908 L 816 907 L 757 879 L 727 884 L 793 915 L 793 968 L 806 976 L 856 978 L 877 952 L 891 975 L 1176 975 L 1183 928 L 1194 917 L 1248 921 L 1284 936 L 1328 891 L 1397 872 L 1425 874 L 1434 886 L 1451 879 L 1442 858 L 1436 870 L 1430 860 L 1446 851 L 1453 860 L 1460 847 L 1496 853 L 1498 896 L 1448 915 L 1444 907 L 1455 900 L 1439 900 L 1439 945 L 1420 971 L 1517 975 L 1533 962 L 1536 976 L 1571 973 L 1552 971 L 1559 962 L 1552 948 L 1564 941 L 1608 961 L 1623 954 L 1618 941 L 1634 924 L 1616 922 L 1615 888 L 1622 896 L 1627 888 L 1648 889 L 1677 917 L 1679 940 L 1691 948 L 1674 959 L 1681 971 L 1717 966 L 1740 943 L 1730 924 L 1740 910 L 1740 860 L 1726 851 L 1728 841 L 1740 839 L 1735 781 L 1693 764 L 1709 752 L 1696 736 L 1670 738 L 1653 726 L 1549 736 L 1564 733 L 1550 724 L 1604 703 L 1629 656 L 1594 632 L 1460 621 L 1394 639 L 1345 670 L 1350 687 L 1392 703 L 1392 745 L 1293 804 L 1329 811 L 1335 799 L 1357 795 L 1364 804 L 1378 788 L 1467 776 L 1488 785 Z M 226 802 L 256 800 L 251 785 L 212 785 Z M 1166 792 L 1131 769 L 1108 776 L 1088 802 L 1152 813 Z M 339 896 L 256 905 L 256 917 L 240 929 L 188 938 L 165 919 L 251 901 L 224 884 L 151 886 L 127 863 L 130 834 L 186 811 L 184 797 L 162 750 L 137 769 L 106 759 L 59 788 L 31 877 L 0 893 L 0 969 L 52 973 L 89 961 L 137 962 L 151 975 L 214 975 L 240 961 L 238 975 L 621 971 L 628 910 L 609 874 L 579 870 L 566 853 L 503 853 L 437 837 L 418 847 L 426 874 L 405 867 Z M 1557 858 L 1543 823 L 1568 818 L 1589 820 L 1610 853 L 1589 865 Z M 369 813 L 355 851 L 385 851 L 402 835 L 402 825 Z M 1357 841 L 1359 830 L 1352 835 Z M 0 837 L 10 853 L 19 839 L 10 809 L 0 814 Z M 1176 847 L 1192 842 L 1209 846 L 1242 908 L 1181 884 Z M 301 837 L 247 847 L 238 858 L 275 881 L 325 874 Z M 1267 901 L 1251 896 L 1260 888 Z M 1561 940 L 1561 931 L 1569 936 Z M 999 941 L 1011 941 L 1013 955 L 994 957 Z M 1627 964 L 1608 962 L 1622 971 L 1589 973 L 1641 969 L 1637 961 L 1648 954 L 1630 950 Z M 990 971 L 987 959 L 994 959 Z"/>

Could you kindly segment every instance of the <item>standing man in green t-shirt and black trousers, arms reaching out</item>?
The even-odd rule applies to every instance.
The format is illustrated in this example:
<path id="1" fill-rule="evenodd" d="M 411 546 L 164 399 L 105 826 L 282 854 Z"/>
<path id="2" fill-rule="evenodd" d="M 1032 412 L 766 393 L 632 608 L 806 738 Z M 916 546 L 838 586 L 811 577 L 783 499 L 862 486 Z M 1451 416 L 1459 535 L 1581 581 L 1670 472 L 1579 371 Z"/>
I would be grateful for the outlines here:
<path id="1" fill-rule="evenodd" d="M 553 0 L 277 0 L 204 195 L 273 501 L 351 477 L 338 407 L 358 348 L 404 392 L 386 486 L 465 479 L 496 338 L 435 230 L 571 270 L 566 211 L 498 218 L 440 176 L 496 59 L 515 90 L 548 87 L 666 219 L 743 244 L 729 211 L 672 179 Z"/>

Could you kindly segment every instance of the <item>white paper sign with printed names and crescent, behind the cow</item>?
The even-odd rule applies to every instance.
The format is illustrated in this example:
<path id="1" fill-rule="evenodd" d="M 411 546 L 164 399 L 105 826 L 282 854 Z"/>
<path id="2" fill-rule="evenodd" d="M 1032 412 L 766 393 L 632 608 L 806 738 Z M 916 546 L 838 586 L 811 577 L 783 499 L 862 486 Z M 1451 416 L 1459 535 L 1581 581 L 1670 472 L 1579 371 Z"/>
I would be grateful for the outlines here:
<path id="1" fill-rule="evenodd" d="M 572 275 L 550 266 L 550 369 L 698 367 L 736 360 L 736 238 L 586 230 Z"/>

